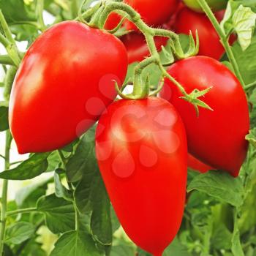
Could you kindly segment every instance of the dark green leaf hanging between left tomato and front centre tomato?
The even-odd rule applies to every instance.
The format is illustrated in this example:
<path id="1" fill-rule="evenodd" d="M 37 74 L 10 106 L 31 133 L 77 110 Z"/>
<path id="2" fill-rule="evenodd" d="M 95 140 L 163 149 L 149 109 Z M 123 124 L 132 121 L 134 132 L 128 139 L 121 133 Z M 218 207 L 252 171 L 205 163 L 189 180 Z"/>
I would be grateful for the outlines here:
<path id="1" fill-rule="evenodd" d="M 89 129 L 81 138 L 76 148 L 75 154 L 67 162 L 67 178 L 69 182 L 80 181 L 84 170 L 93 171 L 97 162 L 94 156 L 94 136 L 95 130 Z"/>

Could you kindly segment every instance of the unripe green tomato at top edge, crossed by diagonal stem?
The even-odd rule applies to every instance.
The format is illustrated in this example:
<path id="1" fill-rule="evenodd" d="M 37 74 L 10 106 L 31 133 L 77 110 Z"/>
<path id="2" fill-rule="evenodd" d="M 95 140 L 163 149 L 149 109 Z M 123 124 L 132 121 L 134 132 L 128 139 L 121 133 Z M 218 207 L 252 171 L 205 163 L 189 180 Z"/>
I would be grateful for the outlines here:
<path id="1" fill-rule="evenodd" d="M 195 12 L 203 12 L 200 4 L 198 4 L 197 0 L 183 0 L 184 4 L 187 5 L 191 10 Z M 206 0 L 211 10 L 217 12 L 219 10 L 225 9 L 227 6 L 227 0 Z"/>

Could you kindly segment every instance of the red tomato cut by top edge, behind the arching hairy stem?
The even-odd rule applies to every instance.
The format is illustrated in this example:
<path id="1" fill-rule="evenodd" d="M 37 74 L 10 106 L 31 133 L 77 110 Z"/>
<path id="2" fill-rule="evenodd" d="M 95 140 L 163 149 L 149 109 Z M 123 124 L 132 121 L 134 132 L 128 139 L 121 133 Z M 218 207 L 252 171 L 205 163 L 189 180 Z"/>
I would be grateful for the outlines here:
<path id="1" fill-rule="evenodd" d="M 162 26 L 167 22 L 178 7 L 178 0 L 124 0 L 124 3 L 137 10 L 149 26 L 155 27 Z M 113 29 L 120 20 L 121 18 L 115 13 L 110 14 L 105 29 Z M 127 30 L 137 30 L 129 20 L 124 21 L 124 26 Z"/>

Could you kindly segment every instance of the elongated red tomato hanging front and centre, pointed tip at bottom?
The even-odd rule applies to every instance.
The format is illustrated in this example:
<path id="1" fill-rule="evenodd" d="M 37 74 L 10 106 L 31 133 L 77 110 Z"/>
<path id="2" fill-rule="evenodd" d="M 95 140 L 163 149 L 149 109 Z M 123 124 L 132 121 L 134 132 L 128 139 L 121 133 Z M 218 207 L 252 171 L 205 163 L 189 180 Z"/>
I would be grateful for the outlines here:
<path id="1" fill-rule="evenodd" d="M 184 211 L 187 140 L 180 116 L 157 97 L 118 100 L 99 118 L 96 154 L 127 235 L 162 255 Z"/>

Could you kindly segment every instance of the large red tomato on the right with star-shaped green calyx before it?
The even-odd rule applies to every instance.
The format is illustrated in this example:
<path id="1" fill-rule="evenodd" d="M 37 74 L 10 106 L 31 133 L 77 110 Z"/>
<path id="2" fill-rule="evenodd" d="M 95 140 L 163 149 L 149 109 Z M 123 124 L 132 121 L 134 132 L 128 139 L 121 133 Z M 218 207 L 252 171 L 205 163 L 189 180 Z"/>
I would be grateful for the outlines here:
<path id="1" fill-rule="evenodd" d="M 180 113 L 187 130 L 189 152 L 216 169 L 238 176 L 246 157 L 245 136 L 249 132 L 246 95 L 238 79 L 219 61 L 205 56 L 178 61 L 168 72 L 187 93 L 212 86 L 200 99 L 213 111 L 200 108 L 199 117 L 169 80 L 165 80 L 161 96 Z"/>

